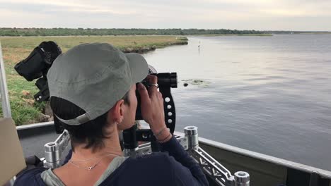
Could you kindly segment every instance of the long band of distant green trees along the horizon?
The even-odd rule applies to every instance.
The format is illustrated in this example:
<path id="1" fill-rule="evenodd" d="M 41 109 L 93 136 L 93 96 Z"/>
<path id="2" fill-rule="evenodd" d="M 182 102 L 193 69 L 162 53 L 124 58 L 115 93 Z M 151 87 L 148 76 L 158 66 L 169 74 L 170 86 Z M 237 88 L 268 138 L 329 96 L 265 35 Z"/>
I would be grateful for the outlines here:
<path id="1" fill-rule="evenodd" d="M 65 35 L 250 35 L 265 34 L 256 30 L 228 29 L 122 29 L 122 28 L 0 28 L 0 36 L 65 36 Z"/>

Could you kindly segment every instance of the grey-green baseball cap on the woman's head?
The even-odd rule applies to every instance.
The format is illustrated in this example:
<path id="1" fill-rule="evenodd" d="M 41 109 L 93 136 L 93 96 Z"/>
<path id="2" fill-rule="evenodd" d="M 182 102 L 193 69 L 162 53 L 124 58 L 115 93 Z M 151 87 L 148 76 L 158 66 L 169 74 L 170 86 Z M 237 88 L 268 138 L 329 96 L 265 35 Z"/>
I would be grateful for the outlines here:
<path id="1" fill-rule="evenodd" d="M 143 56 L 124 54 L 111 44 L 80 44 L 59 55 L 47 73 L 50 97 L 71 101 L 86 111 L 68 125 L 81 125 L 109 111 L 136 82 L 144 80 L 149 66 Z"/>

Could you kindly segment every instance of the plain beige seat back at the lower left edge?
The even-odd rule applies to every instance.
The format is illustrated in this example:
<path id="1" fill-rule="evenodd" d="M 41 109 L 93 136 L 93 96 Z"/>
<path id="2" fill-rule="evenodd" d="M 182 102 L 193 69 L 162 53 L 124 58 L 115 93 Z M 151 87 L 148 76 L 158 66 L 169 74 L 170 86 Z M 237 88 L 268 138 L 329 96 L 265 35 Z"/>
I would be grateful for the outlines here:
<path id="1" fill-rule="evenodd" d="M 4 185 L 25 167 L 23 149 L 11 118 L 0 118 L 0 185 Z"/>

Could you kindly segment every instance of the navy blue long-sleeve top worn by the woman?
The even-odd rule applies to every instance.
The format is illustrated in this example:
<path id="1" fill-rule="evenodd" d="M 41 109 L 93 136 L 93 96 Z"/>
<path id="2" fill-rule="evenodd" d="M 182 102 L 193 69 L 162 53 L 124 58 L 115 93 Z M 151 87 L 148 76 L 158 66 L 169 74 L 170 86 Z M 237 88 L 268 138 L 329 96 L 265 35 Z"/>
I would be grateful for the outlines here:
<path id="1" fill-rule="evenodd" d="M 173 137 L 161 144 L 160 153 L 128 158 L 100 185 L 208 185 L 199 165 Z M 67 156 L 66 161 L 70 158 Z M 33 168 L 21 174 L 15 185 L 45 185 L 40 174 L 46 168 Z"/>

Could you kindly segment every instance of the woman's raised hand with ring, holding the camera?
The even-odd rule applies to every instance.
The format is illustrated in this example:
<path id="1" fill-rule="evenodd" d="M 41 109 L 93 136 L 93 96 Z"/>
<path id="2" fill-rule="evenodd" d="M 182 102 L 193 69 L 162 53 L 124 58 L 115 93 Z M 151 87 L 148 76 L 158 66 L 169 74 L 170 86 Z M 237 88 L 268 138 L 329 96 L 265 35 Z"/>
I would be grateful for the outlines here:
<path id="1" fill-rule="evenodd" d="M 145 79 L 149 84 L 156 84 L 158 77 L 148 75 Z M 149 123 L 154 134 L 165 128 L 163 97 L 161 92 L 158 92 L 158 87 L 150 86 L 147 90 L 141 83 L 137 87 L 141 97 L 141 116 L 146 123 Z M 164 132 L 165 133 L 165 132 Z"/>

